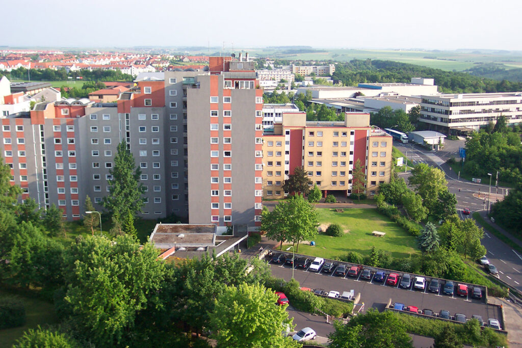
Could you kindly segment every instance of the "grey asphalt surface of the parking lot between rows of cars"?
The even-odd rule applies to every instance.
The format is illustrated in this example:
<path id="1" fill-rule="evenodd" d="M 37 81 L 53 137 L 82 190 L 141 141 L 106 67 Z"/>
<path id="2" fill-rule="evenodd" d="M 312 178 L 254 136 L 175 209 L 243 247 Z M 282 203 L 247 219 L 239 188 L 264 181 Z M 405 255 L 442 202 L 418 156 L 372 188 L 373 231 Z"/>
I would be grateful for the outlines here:
<path id="1" fill-rule="evenodd" d="M 339 262 L 336 263 L 339 264 Z M 272 263 L 271 261 L 270 266 L 272 274 L 276 277 L 287 281 L 292 278 L 292 266 L 284 263 Z M 295 266 L 294 278 L 299 281 L 301 286 L 310 287 L 311 289 L 324 289 L 326 291 L 335 290 L 340 293 L 353 289 L 355 293 L 361 293 L 360 302 L 365 303 L 365 308 L 375 307 L 378 310 L 384 310 L 386 303 L 391 298 L 393 303 L 399 302 L 406 306 L 417 306 L 421 310 L 431 309 L 436 313 L 445 309 L 449 310 L 452 316 L 456 313 L 461 313 L 466 315 L 468 319 L 472 315 L 480 315 L 484 321 L 487 321 L 489 318 L 498 319 L 504 328 L 501 309 L 497 306 L 486 304 L 485 296 L 482 296 L 481 299 L 472 298 L 471 288 L 468 291 L 468 296 L 458 296 L 456 289 L 454 294 L 449 296 L 443 294 L 444 281 L 442 281 L 438 292 L 430 292 L 428 284 L 431 278 L 429 277 L 425 277 L 426 286 L 424 290 L 419 290 L 414 289 L 413 282 L 406 289 L 400 287 L 400 275 L 402 274 L 400 272 L 397 272 L 399 274 L 397 284 L 390 286 L 386 285 L 388 273 L 385 274 L 385 279 L 381 283 L 374 281 L 375 272 L 372 272 L 370 279 L 366 280 L 361 279 L 361 272 L 359 272 L 357 277 L 350 277 L 348 273 L 342 277 L 335 275 L 335 269 L 331 273 L 322 272 L 322 268 L 318 272 L 310 272 L 308 269 L 309 267 L 300 269 Z M 456 286 L 457 282 L 454 282 L 454 284 Z"/>

